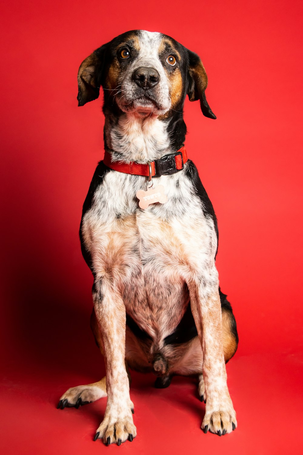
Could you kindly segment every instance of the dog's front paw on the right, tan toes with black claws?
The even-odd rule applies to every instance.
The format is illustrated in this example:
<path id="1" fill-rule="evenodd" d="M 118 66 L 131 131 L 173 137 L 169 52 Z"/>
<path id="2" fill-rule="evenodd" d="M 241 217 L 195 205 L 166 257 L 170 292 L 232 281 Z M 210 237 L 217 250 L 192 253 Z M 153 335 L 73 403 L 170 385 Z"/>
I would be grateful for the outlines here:
<path id="1" fill-rule="evenodd" d="M 202 423 L 204 433 L 210 431 L 219 436 L 231 433 L 237 427 L 236 413 L 232 410 L 207 412 Z"/>

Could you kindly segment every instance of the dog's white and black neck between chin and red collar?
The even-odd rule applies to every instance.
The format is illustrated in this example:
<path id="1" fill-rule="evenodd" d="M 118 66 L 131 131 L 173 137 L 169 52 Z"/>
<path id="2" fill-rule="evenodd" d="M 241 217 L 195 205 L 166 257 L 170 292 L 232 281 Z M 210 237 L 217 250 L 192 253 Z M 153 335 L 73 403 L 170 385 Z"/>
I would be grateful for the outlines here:
<path id="1" fill-rule="evenodd" d="M 104 112 L 104 145 L 113 161 L 146 163 L 182 147 L 186 126 L 182 112 L 168 118 Z"/>

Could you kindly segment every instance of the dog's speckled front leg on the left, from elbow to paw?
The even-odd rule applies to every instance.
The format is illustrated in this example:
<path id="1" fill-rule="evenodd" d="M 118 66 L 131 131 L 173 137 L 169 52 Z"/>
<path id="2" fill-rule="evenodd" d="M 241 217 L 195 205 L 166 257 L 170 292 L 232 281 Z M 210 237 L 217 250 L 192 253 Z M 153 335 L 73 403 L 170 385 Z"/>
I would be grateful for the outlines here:
<path id="1" fill-rule="evenodd" d="M 94 281 L 94 310 L 103 343 L 106 367 L 107 405 L 95 440 L 116 443 L 136 436 L 125 369 L 125 307 L 121 295 L 108 278 Z"/>

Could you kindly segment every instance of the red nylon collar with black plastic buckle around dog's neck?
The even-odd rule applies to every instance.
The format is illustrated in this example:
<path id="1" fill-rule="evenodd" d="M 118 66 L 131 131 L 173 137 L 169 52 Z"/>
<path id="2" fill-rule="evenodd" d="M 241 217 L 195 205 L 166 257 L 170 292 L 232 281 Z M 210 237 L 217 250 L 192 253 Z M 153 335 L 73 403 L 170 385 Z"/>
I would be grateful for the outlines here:
<path id="1" fill-rule="evenodd" d="M 170 175 L 181 171 L 188 157 L 185 147 L 182 146 L 177 152 L 169 153 L 159 160 L 150 162 L 152 169 L 152 177 L 160 177 L 161 175 Z M 124 161 L 112 162 L 112 156 L 105 151 L 103 162 L 105 166 L 110 167 L 114 171 L 124 172 L 124 174 L 143 175 L 149 177 L 149 164 L 140 164 L 135 161 L 125 163 Z"/>

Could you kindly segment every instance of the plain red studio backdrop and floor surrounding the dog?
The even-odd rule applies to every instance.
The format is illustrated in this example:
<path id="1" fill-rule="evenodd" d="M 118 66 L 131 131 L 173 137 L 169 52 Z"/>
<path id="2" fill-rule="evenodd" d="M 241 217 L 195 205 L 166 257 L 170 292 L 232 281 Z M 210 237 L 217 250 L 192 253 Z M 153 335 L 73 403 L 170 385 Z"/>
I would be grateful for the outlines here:
<path id="1" fill-rule="evenodd" d="M 2 453 L 302 453 L 302 2 L 31 0 L 3 10 Z M 104 373 L 78 239 L 104 119 L 101 99 L 77 107 L 77 70 L 131 29 L 173 36 L 209 76 L 218 119 L 187 101 L 186 146 L 219 219 L 220 283 L 238 322 L 227 365 L 238 429 L 202 433 L 194 379 L 156 390 L 152 375 L 133 374 L 138 436 L 107 449 L 92 442 L 106 400 L 55 404 Z"/>

